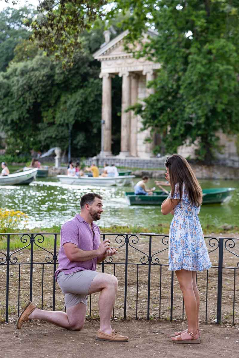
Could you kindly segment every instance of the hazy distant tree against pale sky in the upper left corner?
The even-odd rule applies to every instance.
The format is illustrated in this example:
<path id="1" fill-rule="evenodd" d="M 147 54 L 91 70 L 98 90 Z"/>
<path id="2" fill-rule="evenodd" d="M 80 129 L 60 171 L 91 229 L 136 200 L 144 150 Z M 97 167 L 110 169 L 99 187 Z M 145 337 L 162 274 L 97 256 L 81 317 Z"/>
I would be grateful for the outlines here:
<path id="1" fill-rule="evenodd" d="M 28 26 L 36 10 L 32 5 L 20 9 L 6 8 L 0 12 L 0 72 L 5 71 L 14 57 L 14 48 L 31 35 Z"/>

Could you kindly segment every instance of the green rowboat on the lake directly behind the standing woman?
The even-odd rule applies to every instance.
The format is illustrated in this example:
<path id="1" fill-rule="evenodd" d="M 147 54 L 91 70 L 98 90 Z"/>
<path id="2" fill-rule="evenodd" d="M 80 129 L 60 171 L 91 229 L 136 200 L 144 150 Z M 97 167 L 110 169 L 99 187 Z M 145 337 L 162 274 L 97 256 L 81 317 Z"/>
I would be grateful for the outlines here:
<path id="1" fill-rule="evenodd" d="M 235 188 L 202 189 L 202 204 L 221 204 L 231 199 Z M 125 192 L 129 205 L 161 205 L 167 199 L 165 192 L 153 192 L 153 195 L 136 195 L 134 192 Z"/>

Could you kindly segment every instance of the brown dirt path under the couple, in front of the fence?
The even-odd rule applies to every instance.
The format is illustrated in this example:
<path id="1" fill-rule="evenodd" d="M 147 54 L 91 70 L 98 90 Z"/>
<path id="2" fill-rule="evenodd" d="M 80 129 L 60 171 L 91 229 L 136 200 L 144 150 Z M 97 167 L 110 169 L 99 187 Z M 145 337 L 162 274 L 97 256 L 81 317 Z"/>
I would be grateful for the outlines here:
<path id="1" fill-rule="evenodd" d="M 239 327 L 201 325 L 201 344 L 173 344 L 170 336 L 185 323 L 116 321 L 113 327 L 129 337 L 127 343 L 95 340 L 99 322 L 86 321 L 81 332 L 68 331 L 44 321 L 0 325 L 0 352 L 4 358 L 218 358 L 238 357 Z"/>

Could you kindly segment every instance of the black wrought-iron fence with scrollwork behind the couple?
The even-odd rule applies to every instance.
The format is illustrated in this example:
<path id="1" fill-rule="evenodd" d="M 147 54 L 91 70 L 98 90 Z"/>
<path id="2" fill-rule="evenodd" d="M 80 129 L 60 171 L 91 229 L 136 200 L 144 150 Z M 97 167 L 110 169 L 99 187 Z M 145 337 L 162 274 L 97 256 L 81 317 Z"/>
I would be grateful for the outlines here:
<path id="1" fill-rule="evenodd" d="M 183 297 L 168 271 L 168 236 L 154 233 L 102 234 L 118 247 L 118 255 L 98 270 L 119 281 L 113 317 L 184 319 Z M 198 272 L 200 320 L 239 322 L 239 238 L 205 237 L 212 267 Z M 30 299 L 42 309 L 64 309 L 64 297 L 54 279 L 58 265 L 59 234 L 0 234 L 0 319 L 14 319 Z M 17 250 L 13 247 L 20 247 Z M 48 247 L 52 247 L 49 249 Z M 89 298 L 88 316 L 97 315 L 97 294 Z"/>

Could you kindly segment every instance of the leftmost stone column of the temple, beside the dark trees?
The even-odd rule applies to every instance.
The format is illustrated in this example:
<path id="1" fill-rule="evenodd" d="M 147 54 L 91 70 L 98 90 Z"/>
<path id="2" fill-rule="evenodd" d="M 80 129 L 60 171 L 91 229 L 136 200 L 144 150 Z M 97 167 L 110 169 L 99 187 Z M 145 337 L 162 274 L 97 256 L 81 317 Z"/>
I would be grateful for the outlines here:
<path id="1" fill-rule="evenodd" d="M 101 73 L 102 78 L 102 116 L 101 116 L 101 152 L 100 156 L 112 155 L 111 152 L 111 76 Z"/>

